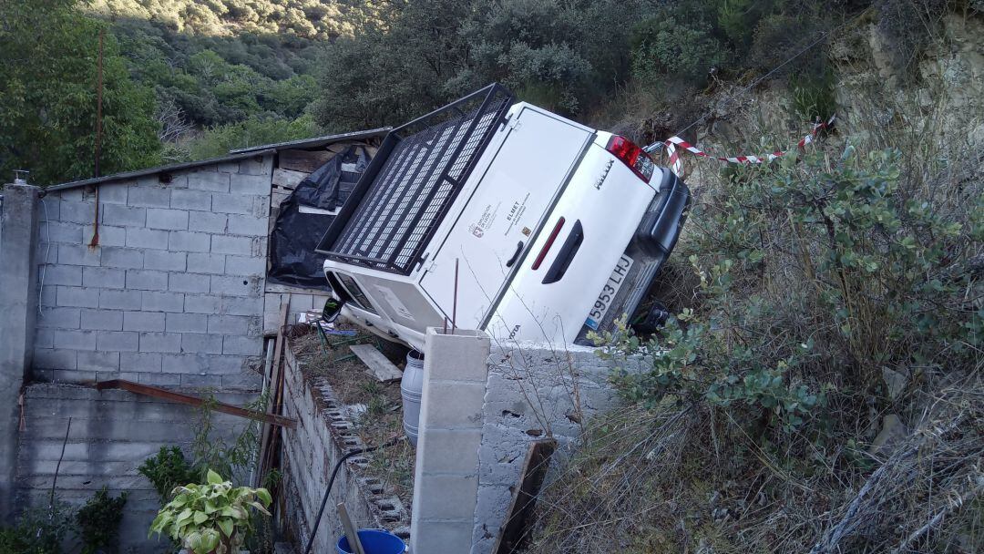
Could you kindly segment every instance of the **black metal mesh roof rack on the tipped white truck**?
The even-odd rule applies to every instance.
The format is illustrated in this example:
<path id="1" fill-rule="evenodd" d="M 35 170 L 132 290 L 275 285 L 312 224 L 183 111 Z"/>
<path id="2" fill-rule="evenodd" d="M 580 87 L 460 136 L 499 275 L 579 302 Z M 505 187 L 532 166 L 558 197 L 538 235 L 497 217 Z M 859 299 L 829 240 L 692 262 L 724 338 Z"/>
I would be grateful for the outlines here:
<path id="1" fill-rule="evenodd" d="M 316 251 L 410 274 L 513 100 L 489 85 L 391 131 Z"/>

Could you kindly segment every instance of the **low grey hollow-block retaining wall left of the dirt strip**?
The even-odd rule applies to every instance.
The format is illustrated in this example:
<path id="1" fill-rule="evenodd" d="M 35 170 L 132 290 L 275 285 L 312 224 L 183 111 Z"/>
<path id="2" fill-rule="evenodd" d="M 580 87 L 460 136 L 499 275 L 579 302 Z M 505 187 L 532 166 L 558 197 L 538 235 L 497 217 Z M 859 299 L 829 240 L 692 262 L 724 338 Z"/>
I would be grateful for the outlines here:
<path id="1" fill-rule="evenodd" d="M 306 380 L 290 348 L 286 360 L 284 415 L 297 419 L 297 427 L 282 430 L 281 469 L 286 520 L 303 547 L 335 464 L 345 453 L 365 445 L 351 432 L 351 410 L 338 402 L 331 386 L 323 378 Z M 338 471 L 314 552 L 335 552 L 335 543 L 344 534 L 335 508 L 342 501 L 359 527 L 383 527 L 404 538 L 408 535 L 408 511 L 379 481 L 361 475 L 367 462 L 353 457 Z"/>

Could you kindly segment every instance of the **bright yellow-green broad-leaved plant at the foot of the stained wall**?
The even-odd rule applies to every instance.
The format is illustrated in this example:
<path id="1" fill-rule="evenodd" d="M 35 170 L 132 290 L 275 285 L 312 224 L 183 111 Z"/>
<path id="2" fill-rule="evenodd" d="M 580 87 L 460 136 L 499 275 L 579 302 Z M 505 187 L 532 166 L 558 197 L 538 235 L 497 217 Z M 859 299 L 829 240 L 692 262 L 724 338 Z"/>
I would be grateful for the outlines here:
<path id="1" fill-rule="evenodd" d="M 167 534 L 194 554 L 235 554 L 252 532 L 250 508 L 270 516 L 267 489 L 233 487 L 212 469 L 208 483 L 174 489 L 174 499 L 157 512 L 148 536 Z"/>

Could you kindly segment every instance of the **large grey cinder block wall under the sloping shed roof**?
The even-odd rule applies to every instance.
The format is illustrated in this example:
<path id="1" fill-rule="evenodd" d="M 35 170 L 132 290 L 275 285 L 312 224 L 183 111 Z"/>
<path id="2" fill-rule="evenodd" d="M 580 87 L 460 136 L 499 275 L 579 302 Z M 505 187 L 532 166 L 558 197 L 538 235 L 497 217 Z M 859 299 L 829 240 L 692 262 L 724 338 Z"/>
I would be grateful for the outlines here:
<path id="1" fill-rule="evenodd" d="M 272 174 L 265 155 L 48 194 L 33 377 L 258 390 Z"/>

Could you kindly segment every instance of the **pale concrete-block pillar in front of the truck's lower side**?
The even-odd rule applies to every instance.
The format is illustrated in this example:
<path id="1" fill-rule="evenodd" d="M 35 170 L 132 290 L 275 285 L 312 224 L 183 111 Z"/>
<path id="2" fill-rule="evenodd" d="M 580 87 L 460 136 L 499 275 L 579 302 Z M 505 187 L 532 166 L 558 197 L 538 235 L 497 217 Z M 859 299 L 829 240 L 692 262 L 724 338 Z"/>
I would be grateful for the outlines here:
<path id="1" fill-rule="evenodd" d="M 471 551 L 489 345 L 480 331 L 427 330 L 412 552 Z"/>

